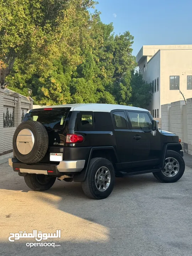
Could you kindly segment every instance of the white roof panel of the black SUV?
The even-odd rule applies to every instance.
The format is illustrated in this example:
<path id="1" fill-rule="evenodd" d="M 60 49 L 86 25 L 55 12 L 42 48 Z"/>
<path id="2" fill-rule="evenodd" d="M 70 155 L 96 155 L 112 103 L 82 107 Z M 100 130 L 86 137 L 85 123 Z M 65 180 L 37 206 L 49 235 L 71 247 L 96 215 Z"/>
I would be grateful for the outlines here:
<path id="1" fill-rule="evenodd" d="M 89 103 L 89 104 L 66 104 L 66 105 L 55 105 L 55 106 L 47 106 L 52 108 L 62 108 L 62 107 L 70 107 L 70 111 L 93 111 L 93 112 L 111 112 L 112 110 L 137 110 L 137 111 L 146 111 L 148 110 L 144 108 L 138 107 L 130 107 L 124 105 L 113 105 L 113 104 L 99 104 L 99 103 Z M 44 107 L 41 107 L 44 108 Z M 41 109 L 39 108 L 39 109 Z"/>

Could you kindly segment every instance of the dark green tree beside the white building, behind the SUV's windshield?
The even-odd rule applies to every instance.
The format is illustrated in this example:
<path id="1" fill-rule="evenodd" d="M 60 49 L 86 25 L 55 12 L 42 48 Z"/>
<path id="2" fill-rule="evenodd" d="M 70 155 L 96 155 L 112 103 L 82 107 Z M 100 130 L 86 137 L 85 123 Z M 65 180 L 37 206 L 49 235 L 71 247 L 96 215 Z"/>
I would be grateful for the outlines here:
<path id="1" fill-rule="evenodd" d="M 132 71 L 130 85 L 132 87 L 132 96 L 129 104 L 134 107 L 147 108 L 151 102 L 151 84 L 148 84 L 137 71 Z"/>

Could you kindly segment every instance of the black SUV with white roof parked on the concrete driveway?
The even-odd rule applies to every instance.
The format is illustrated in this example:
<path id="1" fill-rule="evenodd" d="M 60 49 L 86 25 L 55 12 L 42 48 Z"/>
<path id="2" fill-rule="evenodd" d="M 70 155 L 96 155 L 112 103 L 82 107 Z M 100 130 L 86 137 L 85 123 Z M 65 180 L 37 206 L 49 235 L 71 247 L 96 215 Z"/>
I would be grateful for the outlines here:
<path id="1" fill-rule="evenodd" d="M 185 171 L 181 149 L 178 136 L 158 130 L 148 110 L 60 105 L 28 111 L 15 131 L 9 164 L 32 190 L 48 190 L 58 178 L 82 182 L 86 196 L 103 199 L 124 173 L 178 181 Z"/>

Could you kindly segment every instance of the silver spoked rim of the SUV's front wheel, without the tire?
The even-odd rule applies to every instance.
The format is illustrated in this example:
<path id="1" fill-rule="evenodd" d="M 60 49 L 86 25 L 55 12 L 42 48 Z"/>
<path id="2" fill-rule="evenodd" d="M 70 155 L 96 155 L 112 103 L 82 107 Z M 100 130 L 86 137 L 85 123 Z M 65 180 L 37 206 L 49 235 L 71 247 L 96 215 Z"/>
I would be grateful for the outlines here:
<path id="1" fill-rule="evenodd" d="M 175 158 L 166 158 L 165 159 L 165 166 L 162 169 L 162 173 L 166 177 L 174 177 L 179 171 L 179 163 Z"/>

